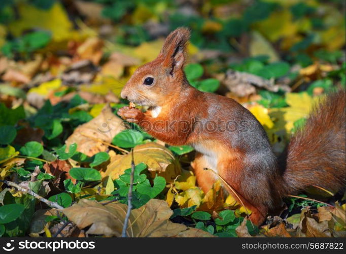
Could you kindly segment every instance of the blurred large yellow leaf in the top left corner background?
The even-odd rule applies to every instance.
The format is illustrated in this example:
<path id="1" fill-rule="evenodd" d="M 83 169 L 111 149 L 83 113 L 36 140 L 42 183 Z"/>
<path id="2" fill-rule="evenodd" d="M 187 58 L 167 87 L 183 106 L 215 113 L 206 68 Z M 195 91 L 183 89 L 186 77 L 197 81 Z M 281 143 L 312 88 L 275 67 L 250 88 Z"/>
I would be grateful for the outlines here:
<path id="1" fill-rule="evenodd" d="M 17 7 L 20 19 L 9 24 L 9 30 L 14 36 L 20 36 L 24 30 L 40 27 L 51 31 L 55 41 L 70 37 L 73 25 L 59 2 L 55 2 L 49 10 L 24 3 L 18 4 Z"/>

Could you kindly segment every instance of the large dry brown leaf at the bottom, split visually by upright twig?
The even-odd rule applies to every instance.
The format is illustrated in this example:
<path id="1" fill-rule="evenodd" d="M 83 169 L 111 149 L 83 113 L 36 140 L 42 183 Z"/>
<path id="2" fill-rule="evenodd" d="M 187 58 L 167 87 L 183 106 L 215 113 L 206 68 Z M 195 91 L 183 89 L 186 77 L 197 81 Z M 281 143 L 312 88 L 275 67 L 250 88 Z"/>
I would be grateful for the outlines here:
<path id="1" fill-rule="evenodd" d="M 86 234 L 119 237 L 126 210 L 125 204 L 103 206 L 96 201 L 83 199 L 62 211 L 80 229 L 90 226 Z M 171 237 L 187 230 L 186 226 L 169 220 L 172 214 L 164 200 L 151 199 L 146 205 L 131 211 L 126 233 L 129 237 Z"/>

